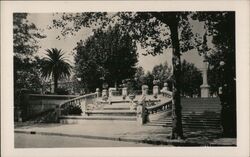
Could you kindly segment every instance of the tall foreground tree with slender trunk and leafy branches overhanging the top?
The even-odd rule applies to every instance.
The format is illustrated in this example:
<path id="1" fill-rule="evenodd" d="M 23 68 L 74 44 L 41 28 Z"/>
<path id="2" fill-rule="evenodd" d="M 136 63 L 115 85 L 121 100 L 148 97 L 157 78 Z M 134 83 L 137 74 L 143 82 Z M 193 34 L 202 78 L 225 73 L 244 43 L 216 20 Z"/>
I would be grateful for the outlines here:
<path id="1" fill-rule="evenodd" d="M 68 29 L 67 22 L 74 22 L 75 27 Z M 183 138 L 180 102 L 181 52 L 193 48 L 191 29 L 186 12 L 118 12 L 118 13 L 77 13 L 64 14 L 62 19 L 54 20 L 55 27 L 63 27 L 63 34 L 79 31 L 80 26 L 89 27 L 100 23 L 101 27 L 110 22 L 119 23 L 122 30 L 150 48 L 148 54 L 157 55 L 164 48 L 172 48 L 172 91 L 173 91 L 173 127 L 172 138 Z M 170 35 L 169 35 L 170 34 Z M 180 36 L 179 36 L 180 35 Z"/>

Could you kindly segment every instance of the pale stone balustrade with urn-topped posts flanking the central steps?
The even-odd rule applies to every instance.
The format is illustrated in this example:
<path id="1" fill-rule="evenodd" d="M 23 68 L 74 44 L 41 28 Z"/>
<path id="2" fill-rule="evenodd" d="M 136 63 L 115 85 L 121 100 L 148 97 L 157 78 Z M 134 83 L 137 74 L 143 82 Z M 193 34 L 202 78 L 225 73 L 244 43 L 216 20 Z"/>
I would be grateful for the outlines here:
<path id="1" fill-rule="evenodd" d="M 145 90 L 146 89 L 146 90 Z M 157 91 L 157 92 L 156 92 Z M 104 105 L 107 105 L 108 102 L 105 100 L 102 100 L 102 98 L 98 98 L 98 92 L 97 90 L 95 93 L 83 95 L 74 99 L 67 100 L 57 106 L 57 117 L 69 115 L 68 108 L 70 106 L 73 107 L 79 107 L 82 111 L 82 115 L 88 115 L 88 112 L 91 110 L 103 110 Z M 112 93 L 111 93 L 112 92 Z M 145 95 L 142 96 L 141 99 L 130 98 L 131 100 L 115 100 L 116 103 L 127 103 L 130 102 L 131 110 L 135 110 L 137 112 L 137 121 L 139 124 L 144 124 L 147 122 L 148 116 L 150 114 L 156 114 L 161 111 L 170 110 L 171 104 L 172 104 L 172 92 L 168 90 L 161 90 L 162 96 L 159 95 L 158 98 L 154 98 L 152 96 L 147 95 L 148 90 L 147 88 L 144 88 L 144 91 L 140 91 L 141 93 L 144 93 Z M 121 94 L 118 94 L 121 93 Z M 103 92 L 103 95 L 107 94 L 107 91 Z M 110 95 L 121 95 L 123 96 L 125 93 L 124 91 L 114 91 L 110 90 Z M 156 90 L 154 94 L 158 94 L 158 89 Z M 134 95 L 135 96 L 135 95 Z M 103 96 L 102 96 L 103 97 Z M 152 97 L 152 99 L 151 99 Z M 151 99 L 151 100 L 150 100 Z M 111 104 L 112 102 L 110 102 Z"/>

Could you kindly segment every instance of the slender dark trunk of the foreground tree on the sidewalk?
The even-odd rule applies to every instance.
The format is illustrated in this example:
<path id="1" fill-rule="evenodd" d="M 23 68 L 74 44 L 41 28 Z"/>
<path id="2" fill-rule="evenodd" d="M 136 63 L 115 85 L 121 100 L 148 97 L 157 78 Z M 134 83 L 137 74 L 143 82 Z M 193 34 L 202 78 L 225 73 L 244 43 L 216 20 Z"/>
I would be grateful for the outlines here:
<path id="1" fill-rule="evenodd" d="M 180 97 L 180 78 L 181 78 L 181 60 L 180 45 L 178 39 L 178 20 L 174 16 L 169 22 L 172 40 L 172 64 L 173 64 L 173 97 L 172 97 L 172 139 L 182 139 L 182 114 L 181 114 L 181 97 Z"/>

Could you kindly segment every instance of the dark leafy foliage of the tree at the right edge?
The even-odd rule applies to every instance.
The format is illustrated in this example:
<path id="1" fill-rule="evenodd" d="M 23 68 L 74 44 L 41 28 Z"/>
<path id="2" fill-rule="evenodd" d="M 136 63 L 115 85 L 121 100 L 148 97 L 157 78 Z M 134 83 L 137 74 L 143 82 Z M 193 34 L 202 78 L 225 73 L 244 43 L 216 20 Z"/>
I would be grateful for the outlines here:
<path id="1" fill-rule="evenodd" d="M 222 84 L 220 79 L 220 62 L 226 63 L 226 75 L 229 84 L 234 84 L 235 73 L 235 13 L 234 12 L 198 12 L 194 14 L 194 19 L 205 21 L 207 30 L 206 36 L 212 36 L 213 46 L 209 47 L 209 51 L 201 51 L 205 54 L 210 64 L 209 84 L 212 92 L 217 92 L 218 87 Z M 205 38 L 205 37 L 204 37 Z M 206 41 L 199 42 L 201 47 L 207 45 Z M 203 46 L 204 47 L 204 46 Z"/>

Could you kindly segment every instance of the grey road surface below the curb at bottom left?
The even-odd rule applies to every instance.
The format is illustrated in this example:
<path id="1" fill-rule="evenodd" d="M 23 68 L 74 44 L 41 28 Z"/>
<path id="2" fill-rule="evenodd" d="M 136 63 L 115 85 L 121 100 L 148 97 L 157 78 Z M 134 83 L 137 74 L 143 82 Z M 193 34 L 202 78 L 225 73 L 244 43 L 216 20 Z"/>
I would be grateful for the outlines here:
<path id="1" fill-rule="evenodd" d="M 15 133 L 15 148 L 156 147 L 156 145 L 57 135 Z"/>

